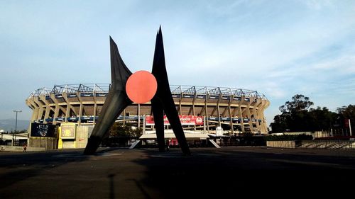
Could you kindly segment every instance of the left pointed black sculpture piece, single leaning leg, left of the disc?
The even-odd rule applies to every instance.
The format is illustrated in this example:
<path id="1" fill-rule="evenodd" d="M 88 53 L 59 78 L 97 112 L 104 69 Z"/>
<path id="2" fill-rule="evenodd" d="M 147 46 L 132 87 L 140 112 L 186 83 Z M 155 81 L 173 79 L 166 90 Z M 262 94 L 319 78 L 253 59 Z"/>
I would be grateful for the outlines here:
<path id="1" fill-rule="evenodd" d="M 126 81 L 132 73 L 121 59 L 117 45 L 111 37 L 110 51 L 111 88 L 102 107 L 99 120 L 97 120 L 94 130 L 92 130 L 92 135 L 89 137 L 84 154 L 94 154 L 96 152 L 99 144 L 109 132 L 116 118 L 132 103 L 126 94 Z"/>

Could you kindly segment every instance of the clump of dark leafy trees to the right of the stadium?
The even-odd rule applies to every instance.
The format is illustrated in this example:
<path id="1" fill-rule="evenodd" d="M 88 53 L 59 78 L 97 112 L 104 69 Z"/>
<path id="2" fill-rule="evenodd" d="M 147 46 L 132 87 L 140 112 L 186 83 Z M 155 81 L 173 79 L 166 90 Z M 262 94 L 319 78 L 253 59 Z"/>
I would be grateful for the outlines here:
<path id="1" fill-rule="evenodd" d="M 348 120 L 351 121 L 351 130 L 355 129 L 354 105 L 342 106 L 334 113 L 327 107 L 310 108 L 313 102 L 306 96 L 297 94 L 292 99 L 293 101 L 287 101 L 285 105 L 280 106 L 282 113 L 273 118 L 274 122 L 270 125 L 273 132 L 315 132 L 333 129 L 338 135 L 339 132 L 346 135 L 349 132 Z"/>

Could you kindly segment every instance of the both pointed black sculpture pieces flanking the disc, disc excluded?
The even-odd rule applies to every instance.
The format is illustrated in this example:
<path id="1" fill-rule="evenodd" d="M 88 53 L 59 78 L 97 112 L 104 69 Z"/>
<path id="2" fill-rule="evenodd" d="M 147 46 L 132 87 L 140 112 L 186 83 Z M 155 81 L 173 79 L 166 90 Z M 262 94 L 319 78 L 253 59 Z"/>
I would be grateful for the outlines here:
<path id="1" fill-rule="evenodd" d="M 132 74 L 126 67 L 119 55 L 117 45 L 110 37 L 110 50 L 111 50 L 111 89 L 106 98 L 102 112 L 99 115 L 99 120 L 92 130 L 92 135 L 89 137 L 87 147 L 84 154 L 94 154 L 102 139 L 109 132 L 109 128 L 114 124 L 116 118 L 122 113 L 124 108 L 129 106 L 132 101 L 126 93 L 126 82 Z M 152 112 L 155 123 L 155 130 L 158 140 L 158 147 L 160 152 L 165 151 L 164 140 L 164 123 L 163 115 L 167 115 L 175 137 L 177 138 L 182 152 L 186 155 L 190 154 L 190 149 L 187 145 L 187 140 L 182 130 L 182 125 L 178 116 L 178 111 L 175 108 L 173 97 L 171 95 L 168 74 L 165 67 L 165 56 L 163 46 L 163 35 L 159 27 L 156 41 L 155 52 L 153 59 L 152 74 L 158 84 L 155 96 L 151 100 Z"/>

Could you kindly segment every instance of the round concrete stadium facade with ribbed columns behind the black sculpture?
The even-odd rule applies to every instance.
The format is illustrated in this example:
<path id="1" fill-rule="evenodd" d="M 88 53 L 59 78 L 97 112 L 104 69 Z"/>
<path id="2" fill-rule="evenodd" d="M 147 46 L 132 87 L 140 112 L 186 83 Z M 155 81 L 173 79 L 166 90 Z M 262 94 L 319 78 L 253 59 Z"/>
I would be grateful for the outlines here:
<path id="1" fill-rule="evenodd" d="M 37 89 L 26 99 L 33 110 L 31 123 L 95 125 L 110 86 L 67 84 Z M 216 132 L 222 127 L 229 135 L 268 132 L 264 110 L 270 102 L 257 91 L 210 86 L 170 86 L 170 90 L 180 118 L 194 121 L 203 118 L 203 123 L 182 123 L 185 130 Z M 151 115 L 150 102 L 133 103 L 116 122 L 154 130 Z M 166 126 L 169 127 L 168 123 Z"/>

